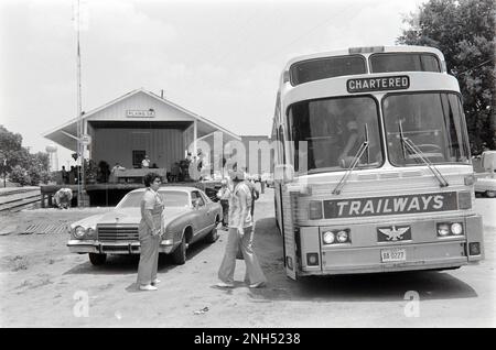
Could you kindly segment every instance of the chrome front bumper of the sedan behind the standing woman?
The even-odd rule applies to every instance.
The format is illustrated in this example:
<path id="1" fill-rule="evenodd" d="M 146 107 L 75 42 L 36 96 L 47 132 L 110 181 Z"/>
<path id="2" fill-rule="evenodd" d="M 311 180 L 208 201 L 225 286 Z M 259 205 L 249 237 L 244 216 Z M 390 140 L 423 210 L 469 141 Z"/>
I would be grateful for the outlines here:
<path id="1" fill-rule="evenodd" d="M 67 247 L 72 253 L 108 253 L 108 254 L 139 254 L 140 242 L 99 242 L 69 240 Z M 163 240 L 159 252 L 169 254 L 174 249 L 172 240 Z"/>

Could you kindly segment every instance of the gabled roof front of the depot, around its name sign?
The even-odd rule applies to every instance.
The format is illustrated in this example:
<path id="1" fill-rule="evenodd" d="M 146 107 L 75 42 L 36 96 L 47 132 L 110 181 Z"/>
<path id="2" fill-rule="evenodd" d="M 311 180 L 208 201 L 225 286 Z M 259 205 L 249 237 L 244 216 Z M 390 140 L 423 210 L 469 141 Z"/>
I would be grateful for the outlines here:
<path id="1" fill-rule="evenodd" d="M 169 101 L 165 98 L 162 98 L 151 91 L 148 91 L 143 88 L 132 90 L 128 94 L 122 95 L 119 98 L 116 98 L 108 103 L 100 106 L 96 109 L 90 110 L 89 112 L 84 113 L 83 120 L 87 121 L 118 121 L 115 118 L 106 118 L 105 117 L 105 110 L 110 109 L 111 107 L 118 105 L 119 102 L 123 102 L 127 99 L 130 99 L 132 97 L 136 97 L 137 95 L 142 94 L 144 96 L 150 97 L 153 101 L 158 101 L 160 105 L 166 106 L 168 108 L 172 108 L 175 111 L 179 111 L 177 116 L 181 114 L 181 118 L 174 119 L 173 117 L 164 118 L 163 116 L 161 118 L 154 119 L 153 121 L 166 121 L 166 122 L 184 122 L 184 121 L 194 121 L 196 120 L 198 123 L 198 131 L 202 134 L 208 134 L 215 131 L 220 131 L 224 134 L 228 135 L 229 138 L 233 138 L 235 140 L 241 140 L 239 135 L 235 134 L 234 132 L 218 125 L 217 123 L 198 116 L 184 107 L 181 107 L 174 102 Z M 136 123 L 136 119 L 120 119 L 120 122 L 129 122 L 133 121 Z M 142 119 L 140 121 L 143 121 Z M 149 121 L 149 120 L 147 120 Z M 58 125 L 50 131 L 46 131 L 42 134 L 44 138 L 66 147 L 73 151 L 76 151 L 76 140 L 77 140 L 77 117 L 68 120 L 67 122 L 63 123 L 62 125 Z M 200 136 L 200 134 L 198 134 Z"/>

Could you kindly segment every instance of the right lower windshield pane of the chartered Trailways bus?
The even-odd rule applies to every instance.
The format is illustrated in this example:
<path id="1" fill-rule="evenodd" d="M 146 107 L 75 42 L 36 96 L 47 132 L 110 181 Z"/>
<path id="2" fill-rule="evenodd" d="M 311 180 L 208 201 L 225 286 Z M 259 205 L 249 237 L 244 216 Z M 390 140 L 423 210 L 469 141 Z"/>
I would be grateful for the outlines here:
<path id="1" fill-rule="evenodd" d="M 389 161 L 395 166 L 423 164 L 405 150 L 401 134 L 434 164 L 468 163 L 462 103 L 455 94 L 395 94 L 382 101 Z"/>

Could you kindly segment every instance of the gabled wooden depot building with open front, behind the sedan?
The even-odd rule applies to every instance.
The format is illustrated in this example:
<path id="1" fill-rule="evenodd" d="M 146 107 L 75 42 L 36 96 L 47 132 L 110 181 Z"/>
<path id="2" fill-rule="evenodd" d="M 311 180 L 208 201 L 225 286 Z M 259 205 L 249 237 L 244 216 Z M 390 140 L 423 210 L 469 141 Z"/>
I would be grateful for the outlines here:
<path id="1" fill-rule="evenodd" d="M 96 164 L 119 163 L 126 168 L 141 167 L 145 155 L 150 166 L 170 172 L 187 152 L 196 153 L 198 141 L 211 145 L 213 134 L 222 133 L 225 143 L 241 138 L 225 128 L 144 89 L 126 94 L 83 114 L 85 157 Z M 43 134 L 46 139 L 77 152 L 77 118 Z"/>

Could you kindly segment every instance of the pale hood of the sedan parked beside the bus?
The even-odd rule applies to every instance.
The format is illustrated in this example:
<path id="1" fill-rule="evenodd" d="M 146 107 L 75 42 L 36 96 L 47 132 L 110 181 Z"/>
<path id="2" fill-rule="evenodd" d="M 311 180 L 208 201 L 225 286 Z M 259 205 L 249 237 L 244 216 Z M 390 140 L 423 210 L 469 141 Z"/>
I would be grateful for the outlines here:
<path id="1" fill-rule="evenodd" d="M 164 209 L 165 225 L 176 217 L 190 211 L 191 208 L 184 207 L 169 207 Z M 72 226 L 83 226 L 84 228 L 93 227 L 96 225 L 138 225 L 141 220 L 140 208 L 123 208 L 115 209 L 105 214 L 94 215 L 83 220 L 74 222 Z"/>

